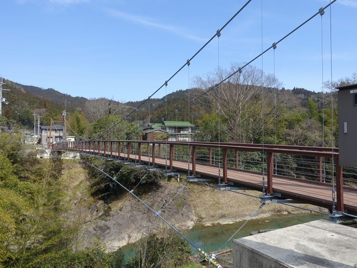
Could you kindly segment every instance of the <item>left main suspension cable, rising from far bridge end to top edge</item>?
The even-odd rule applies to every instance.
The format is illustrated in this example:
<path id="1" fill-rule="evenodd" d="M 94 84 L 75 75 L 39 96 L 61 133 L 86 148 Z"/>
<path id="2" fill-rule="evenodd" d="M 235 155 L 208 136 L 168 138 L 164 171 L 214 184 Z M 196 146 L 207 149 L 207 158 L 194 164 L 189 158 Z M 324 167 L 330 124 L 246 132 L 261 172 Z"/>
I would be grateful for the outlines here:
<path id="1" fill-rule="evenodd" d="M 138 107 L 136 107 L 134 110 L 132 110 L 129 114 L 125 115 L 123 119 L 120 119 L 117 123 L 115 123 L 112 127 L 110 127 L 109 129 L 99 133 L 97 136 L 93 137 L 92 139 L 98 138 L 101 135 L 103 135 L 104 133 L 110 131 L 111 129 L 115 128 L 115 126 L 117 126 L 121 121 L 123 121 L 126 117 L 132 115 L 138 108 L 140 108 L 141 106 L 143 106 L 152 96 L 154 96 L 161 88 L 163 88 L 165 85 L 167 85 L 167 83 L 174 78 L 177 74 L 179 74 L 179 72 L 187 65 L 188 62 L 190 62 L 192 59 L 194 59 L 202 50 L 203 48 L 205 48 L 216 36 L 218 32 L 221 32 L 249 3 L 251 2 L 251 0 L 248 0 L 223 26 L 222 28 L 217 31 L 204 45 L 201 46 L 201 48 L 199 48 L 199 50 L 187 61 L 185 62 L 184 65 L 182 65 L 169 79 L 167 79 L 165 81 L 165 83 L 163 83 L 157 90 L 154 91 L 154 93 L 152 93 L 147 99 L 145 99 Z"/>

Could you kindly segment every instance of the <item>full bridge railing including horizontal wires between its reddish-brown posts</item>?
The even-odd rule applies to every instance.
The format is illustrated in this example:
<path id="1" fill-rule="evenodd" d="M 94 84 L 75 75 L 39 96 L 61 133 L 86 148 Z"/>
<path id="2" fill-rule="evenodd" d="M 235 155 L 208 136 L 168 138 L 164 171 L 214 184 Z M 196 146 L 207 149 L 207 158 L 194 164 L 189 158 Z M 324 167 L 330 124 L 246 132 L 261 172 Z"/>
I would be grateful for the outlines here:
<path id="1" fill-rule="evenodd" d="M 253 176 L 262 176 L 262 144 L 179 142 L 144 140 L 85 140 L 53 144 L 54 150 L 79 151 L 108 157 L 125 158 L 137 163 L 143 161 L 155 166 L 160 164 L 173 169 L 174 161 L 190 161 L 190 172 L 196 176 L 196 165 L 221 166 L 224 183 L 228 182 L 228 172 L 244 170 Z M 273 177 L 310 181 L 315 185 L 331 185 L 336 178 L 336 208 L 344 211 L 344 187 L 356 187 L 356 169 L 349 168 L 343 173 L 339 165 L 338 148 L 306 147 L 264 144 L 264 169 L 267 179 L 267 193 L 273 194 Z M 220 157 L 219 157 L 220 156 Z M 145 158 L 145 160 L 142 160 Z M 162 160 L 165 161 L 162 161 Z M 333 159 L 333 161 L 332 161 Z M 219 162 L 220 160 L 220 162 Z M 334 168 L 332 164 L 334 163 Z M 186 165 L 187 169 L 187 165 Z M 334 170 L 334 174 L 333 174 Z M 217 174 L 212 174 L 217 177 Z M 335 182 L 334 182 L 335 183 Z M 315 186 L 316 187 L 316 186 Z M 288 188 L 288 187 L 287 187 Z M 313 188 L 313 186 L 312 186 Z M 352 188 L 351 188 L 352 189 Z M 302 191 L 309 194 L 309 191 Z M 350 194 L 350 193 L 346 193 Z M 357 204 L 355 204 L 357 206 Z"/>

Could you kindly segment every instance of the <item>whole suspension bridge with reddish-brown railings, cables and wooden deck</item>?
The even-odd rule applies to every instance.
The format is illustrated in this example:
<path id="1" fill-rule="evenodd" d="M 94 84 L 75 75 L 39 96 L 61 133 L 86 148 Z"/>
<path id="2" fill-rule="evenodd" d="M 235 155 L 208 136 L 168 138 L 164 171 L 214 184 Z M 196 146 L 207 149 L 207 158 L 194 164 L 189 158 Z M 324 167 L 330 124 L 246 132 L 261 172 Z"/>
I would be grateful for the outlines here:
<path id="1" fill-rule="evenodd" d="M 235 17 L 244 10 L 251 2 L 247 1 L 237 12 L 231 17 L 215 34 L 202 46 L 199 50 L 190 57 L 185 63 L 169 77 L 165 82 L 156 89 L 149 97 L 141 102 L 138 107 L 122 117 L 119 121 L 113 124 L 110 128 L 99 133 L 91 139 L 86 139 L 80 135 L 78 141 L 64 141 L 55 144 L 49 144 L 56 152 L 72 151 L 79 152 L 83 156 L 93 156 L 107 159 L 108 161 L 122 161 L 126 164 L 137 166 L 145 166 L 147 169 L 157 169 L 169 175 L 187 175 L 187 180 L 190 182 L 205 183 L 212 186 L 209 182 L 213 182 L 218 189 L 235 191 L 239 194 L 245 193 L 245 189 L 254 189 L 262 192 L 259 196 L 252 198 L 261 199 L 262 205 L 254 211 L 252 216 L 259 211 L 264 204 L 281 203 L 288 206 L 296 206 L 292 204 L 309 203 L 319 207 L 327 208 L 331 220 L 335 222 L 342 221 L 344 218 L 357 218 L 357 179 L 354 169 L 344 168 L 339 164 L 339 149 L 325 147 L 325 122 L 323 121 L 323 146 L 322 147 L 307 147 L 294 145 L 278 145 L 266 144 L 264 141 L 264 98 L 266 88 L 264 86 L 263 76 L 263 60 L 261 72 L 261 85 L 256 85 L 261 88 L 261 128 L 262 138 L 261 144 L 253 143 L 226 143 L 220 141 L 220 91 L 221 85 L 224 83 L 232 83 L 230 80 L 233 76 L 238 75 L 238 83 L 240 83 L 240 75 L 244 69 L 253 61 L 263 58 L 271 49 L 274 51 L 274 77 L 275 77 L 275 50 L 277 44 L 288 38 L 295 31 L 303 27 L 306 23 L 315 17 L 321 17 L 321 60 L 322 60 L 322 84 L 323 84 L 323 38 L 322 38 L 322 17 L 325 10 L 329 9 L 330 13 L 330 32 L 331 32 L 331 5 L 337 0 L 330 1 L 325 7 L 316 10 L 311 17 L 304 20 L 299 26 L 294 28 L 281 39 L 272 43 L 265 50 L 263 48 L 263 2 L 262 2 L 262 51 L 253 59 L 247 61 L 244 65 L 232 71 L 227 77 L 220 78 L 213 85 L 202 90 L 202 94 L 192 99 L 190 96 L 190 64 L 192 60 L 215 38 L 218 38 L 218 69 L 219 66 L 219 37 L 222 30 L 235 19 Z M 331 48 L 330 34 L 330 54 Z M 331 56 L 331 72 L 332 81 L 332 56 Z M 176 109 L 174 114 L 167 113 L 167 86 L 168 83 L 187 67 L 188 72 L 188 100 L 181 108 Z M 332 83 L 332 82 L 331 82 Z M 274 93 L 275 88 L 274 86 Z M 117 130 L 119 124 L 125 120 L 132 120 L 137 125 L 136 115 L 138 110 L 147 105 L 148 120 L 150 122 L 150 100 L 159 90 L 165 88 L 165 116 L 162 121 L 172 119 L 174 115 L 181 111 L 187 112 L 188 121 L 193 121 L 193 107 L 196 100 L 205 98 L 208 93 L 214 93 L 214 102 L 217 104 L 218 113 L 218 140 L 215 142 L 198 142 L 198 141 L 168 141 L 168 140 L 140 140 L 136 136 L 134 139 L 107 139 L 103 140 L 104 134 Z M 276 89 L 277 90 L 277 89 Z M 323 92 L 324 93 L 324 92 Z M 331 133 L 334 133 L 334 113 L 333 111 L 333 86 L 330 85 L 331 95 Z M 322 94 L 323 95 L 323 94 Z M 322 112 L 326 109 L 324 99 L 322 99 Z M 274 98 L 274 119 L 275 119 L 276 98 Z M 152 108 L 151 108 L 152 109 Z M 134 117 L 135 116 L 135 117 Z M 192 116 L 192 118 L 191 118 Z M 323 118 L 325 118 L 323 114 Z M 160 122 L 158 122 L 160 123 Z M 65 125 L 68 125 L 64 121 Z M 275 123 L 274 123 L 275 126 Z M 68 125 L 71 129 L 71 127 Z M 276 126 L 275 126 L 276 128 Z M 276 135 L 276 134 L 275 134 Z M 334 137 L 331 136 L 334 144 Z M 50 142 L 49 142 L 50 143 Z M 276 143 L 276 138 L 275 138 Z M 88 161 L 86 161 L 90 164 Z M 91 164 L 90 164 L 91 165 Z M 93 165 L 92 165 L 93 166 Z M 97 168 L 93 166 L 94 168 Z M 97 168 L 98 169 L 98 168 Z M 98 169 L 100 170 L 100 169 Z M 103 170 L 100 170 L 106 176 Z M 172 228 L 177 234 L 188 241 L 197 251 L 203 255 L 210 263 L 216 267 L 219 265 L 212 256 L 203 252 L 195 246 L 187 237 L 175 229 L 173 225 L 168 223 L 161 215 L 160 211 L 152 210 L 145 202 L 140 200 L 133 191 L 126 189 L 115 178 L 110 177 L 134 198 L 138 199 L 156 216 L 160 217 L 165 224 Z M 248 194 L 249 195 L 249 194 Z M 234 204 L 227 204 L 227 206 Z M 311 209 L 309 209 L 311 210 Z M 324 213 L 321 211 L 315 211 Z M 246 222 L 244 223 L 246 224 Z M 238 230 L 239 231 L 239 230 Z M 238 232 L 237 231 L 237 232 Z M 232 236 L 233 237 L 233 236 Z M 232 238 L 231 237 L 231 238 Z M 230 238 L 230 239 L 231 239 Z"/>

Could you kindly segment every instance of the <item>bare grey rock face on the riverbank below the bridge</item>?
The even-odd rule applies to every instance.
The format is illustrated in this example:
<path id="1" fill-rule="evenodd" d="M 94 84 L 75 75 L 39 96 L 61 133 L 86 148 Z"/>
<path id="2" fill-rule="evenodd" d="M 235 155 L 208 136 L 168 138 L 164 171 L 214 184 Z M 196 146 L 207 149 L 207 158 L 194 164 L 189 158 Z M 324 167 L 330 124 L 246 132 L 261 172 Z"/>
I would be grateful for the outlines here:
<path id="1" fill-rule="evenodd" d="M 176 228 L 189 229 L 197 218 L 187 199 L 188 189 L 184 188 L 170 202 L 182 186 L 173 182 L 162 182 L 161 187 L 145 193 L 140 198 L 155 211 L 162 209 L 161 215 Z M 103 202 L 91 206 L 94 220 L 88 218 L 87 227 L 82 232 L 83 247 L 98 239 L 105 243 L 107 251 L 115 251 L 127 243 L 136 242 L 141 237 L 157 231 L 163 225 L 154 213 L 129 194 L 109 204 L 105 211 L 103 208 Z M 102 212 L 96 212 L 97 210 Z"/>

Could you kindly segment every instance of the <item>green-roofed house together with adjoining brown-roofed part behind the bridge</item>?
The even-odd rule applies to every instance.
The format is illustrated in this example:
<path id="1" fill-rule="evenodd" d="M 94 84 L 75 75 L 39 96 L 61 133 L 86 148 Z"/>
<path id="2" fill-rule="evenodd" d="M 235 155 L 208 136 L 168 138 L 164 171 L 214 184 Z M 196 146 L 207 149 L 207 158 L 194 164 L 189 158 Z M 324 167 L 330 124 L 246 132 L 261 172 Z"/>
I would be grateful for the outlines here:
<path id="1" fill-rule="evenodd" d="M 196 126 L 188 121 L 163 121 L 163 124 L 151 124 L 142 129 L 144 131 L 143 140 L 160 139 L 168 134 L 168 141 L 193 141 Z"/>

